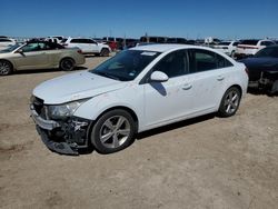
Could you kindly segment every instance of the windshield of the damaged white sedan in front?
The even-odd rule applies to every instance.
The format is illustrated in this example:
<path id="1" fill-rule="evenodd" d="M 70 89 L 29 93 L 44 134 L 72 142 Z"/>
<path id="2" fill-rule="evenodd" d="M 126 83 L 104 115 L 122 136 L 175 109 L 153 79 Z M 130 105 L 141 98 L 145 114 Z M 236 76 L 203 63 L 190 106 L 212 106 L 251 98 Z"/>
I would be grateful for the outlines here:
<path id="1" fill-rule="evenodd" d="M 159 54 L 155 51 L 126 50 L 90 70 L 90 72 L 115 80 L 130 81 Z"/>

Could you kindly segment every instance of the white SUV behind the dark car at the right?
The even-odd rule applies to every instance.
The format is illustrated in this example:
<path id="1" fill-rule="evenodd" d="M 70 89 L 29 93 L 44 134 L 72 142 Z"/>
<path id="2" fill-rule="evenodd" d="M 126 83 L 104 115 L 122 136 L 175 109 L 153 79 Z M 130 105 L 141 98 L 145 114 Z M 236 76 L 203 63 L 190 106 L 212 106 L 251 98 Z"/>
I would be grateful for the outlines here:
<path id="1" fill-rule="evenodd" d="M 276 44 L 276 43 L 275 41 L 271 41 L 271 40 L 256 40 L 256 39 L 242 40 L 237 46 L 235 57 L 239 59 L 239 58 L 245 58 L 248 56 L 254 56 L 259 50 L 268 46 L 272 46 L 272 44 Z"/>

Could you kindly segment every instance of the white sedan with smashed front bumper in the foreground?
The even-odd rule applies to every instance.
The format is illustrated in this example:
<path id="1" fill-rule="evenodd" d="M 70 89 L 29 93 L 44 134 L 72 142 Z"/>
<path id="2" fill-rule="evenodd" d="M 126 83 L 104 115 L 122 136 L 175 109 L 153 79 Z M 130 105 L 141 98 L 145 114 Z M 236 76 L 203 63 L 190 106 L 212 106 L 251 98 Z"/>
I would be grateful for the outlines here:
<path id="1" fill-rule="evenodd" d="M 150 44 L 39 84 L 30 107 L 50 150 L 78 155 L 92 145 L 111 153 L 156 127 L 210 112 L 234 116 L 247 84 L 246 67 L 214 49 Z"/>

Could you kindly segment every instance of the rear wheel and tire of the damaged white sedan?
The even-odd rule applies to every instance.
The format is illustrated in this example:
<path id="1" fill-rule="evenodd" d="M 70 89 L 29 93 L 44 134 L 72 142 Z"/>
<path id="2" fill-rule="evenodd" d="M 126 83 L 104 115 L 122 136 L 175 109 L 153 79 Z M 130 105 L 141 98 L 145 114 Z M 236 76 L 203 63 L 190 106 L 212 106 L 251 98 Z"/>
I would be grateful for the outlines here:
<path id="1" fill-rule="evenodd" d="M 240 92 L 239 88 L 237 88 L 237 87 L 229 88 L 225 92 L 225 94 L 221 99 L 218 115 L 222 118 L 234 116 L 238 110 L 240 99 L 241 99 L 241 92 Z"/>

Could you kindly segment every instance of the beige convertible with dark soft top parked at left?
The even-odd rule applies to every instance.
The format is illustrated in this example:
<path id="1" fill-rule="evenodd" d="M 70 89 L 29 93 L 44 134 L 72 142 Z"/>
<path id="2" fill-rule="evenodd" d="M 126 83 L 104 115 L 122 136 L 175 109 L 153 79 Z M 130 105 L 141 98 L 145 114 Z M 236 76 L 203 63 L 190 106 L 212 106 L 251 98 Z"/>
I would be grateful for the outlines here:
<path id="1" fill-rule="evenodd" d="M 80 49 L 64 49 L 58 43 L 47 41 L 31 41 L 0 51 L 0 76 L 27 69 L 72 70 L 82 63 L 85 57 Z"/>

